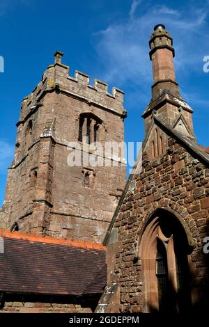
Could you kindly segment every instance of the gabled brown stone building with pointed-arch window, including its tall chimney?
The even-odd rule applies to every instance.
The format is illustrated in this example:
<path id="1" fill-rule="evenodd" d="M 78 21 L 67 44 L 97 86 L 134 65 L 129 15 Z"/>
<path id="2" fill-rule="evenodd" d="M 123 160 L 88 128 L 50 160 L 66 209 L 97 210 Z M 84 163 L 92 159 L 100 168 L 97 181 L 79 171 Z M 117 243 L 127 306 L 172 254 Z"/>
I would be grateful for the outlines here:
<path id="1" fill-rule="evenodd" d="M 196 145 L 164 25 L 155 26 L 149 45 L 144 144 L 104 238 L 108 285 L 97 312 L 208 308 L 209 153 Z"/>

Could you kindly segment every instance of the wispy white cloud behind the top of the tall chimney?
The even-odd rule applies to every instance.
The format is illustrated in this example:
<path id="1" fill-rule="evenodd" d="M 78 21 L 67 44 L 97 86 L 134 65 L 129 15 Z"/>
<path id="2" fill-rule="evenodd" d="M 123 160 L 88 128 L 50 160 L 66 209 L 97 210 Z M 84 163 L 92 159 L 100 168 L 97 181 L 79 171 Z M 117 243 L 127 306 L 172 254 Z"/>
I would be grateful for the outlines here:
<path id="1" fill-rule="evenodd" d="M 102 78 L 123 86 L 131 81 L 143 87 L 152 80 L 148 60 L 148 40 L 155 24 L 165 24 L 173 37 L 176 49 L 176 70 L 188 74 L 202 70 L 202 58 L 208 53 L 206 8 L 176 10 L 168 6 L 145 6 L 137 10 L 141 1 L 134 0 L 123 22 L 114 22 L 97 34 L 95 47 L 105 70 Z M 141 4 L 142 6 L 142 4 Z M 140 12 L 143 13 L 140 15 Z M 205 33 L 204 33 L 205 31 Z"/>

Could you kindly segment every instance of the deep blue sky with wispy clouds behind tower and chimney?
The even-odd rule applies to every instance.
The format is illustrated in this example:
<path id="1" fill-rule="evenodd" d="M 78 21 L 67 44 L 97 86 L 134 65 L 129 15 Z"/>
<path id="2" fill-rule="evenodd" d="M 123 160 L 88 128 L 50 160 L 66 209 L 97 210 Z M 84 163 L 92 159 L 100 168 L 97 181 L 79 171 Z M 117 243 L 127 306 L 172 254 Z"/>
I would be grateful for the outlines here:
<path id="1" fill-rule="evenodd" d="M 0 205 L 7 167 L 13 158 L 21 100 L 36 86 L 56 49 L 63 63 L 125 91 L 125 141 L 142 141 L 141 113 L 152 84 L 148 40 L 155 24 L 165 24 L 176 49 L 176 79 L 194 112 L 199 144 L 208 146 L 209 1 L 1 0 Z"/>

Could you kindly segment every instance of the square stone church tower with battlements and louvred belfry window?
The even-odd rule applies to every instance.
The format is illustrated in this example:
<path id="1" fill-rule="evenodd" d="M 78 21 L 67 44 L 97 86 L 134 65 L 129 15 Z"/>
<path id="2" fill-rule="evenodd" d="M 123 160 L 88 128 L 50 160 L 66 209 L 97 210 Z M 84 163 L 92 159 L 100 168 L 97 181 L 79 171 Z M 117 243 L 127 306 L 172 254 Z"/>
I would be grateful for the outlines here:
<path id="1" fill-rule="evenodd" d="M 74 150 L 81 158 L 93 156 L 95 141 L 123 143 L 123 92 L 113 88 L 109 94 L 98 79 L 91 86 L 82 72 L 70 77 L 62 56 L 56 51 L 54 64 L 22 100 L 0 224 L 20 232 L 101 242 L 125 185 L 124 161 L 104 152 L 100 156 L 109 162 L 105 167 L 84 159 L 70 166 L 68 155 Z"/>

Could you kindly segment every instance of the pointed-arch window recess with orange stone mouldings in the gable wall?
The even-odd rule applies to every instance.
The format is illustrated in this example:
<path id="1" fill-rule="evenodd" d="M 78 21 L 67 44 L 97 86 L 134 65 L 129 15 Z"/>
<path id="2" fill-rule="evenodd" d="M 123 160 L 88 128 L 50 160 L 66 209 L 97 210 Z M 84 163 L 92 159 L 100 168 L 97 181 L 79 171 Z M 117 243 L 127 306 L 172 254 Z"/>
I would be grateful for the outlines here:
<path id="1" fill-rule="evenodd" d="M 146 312 L 187 312 L 191 306 L 189 244 L 178 218 L 158 209 L 140 244 Z"/>

